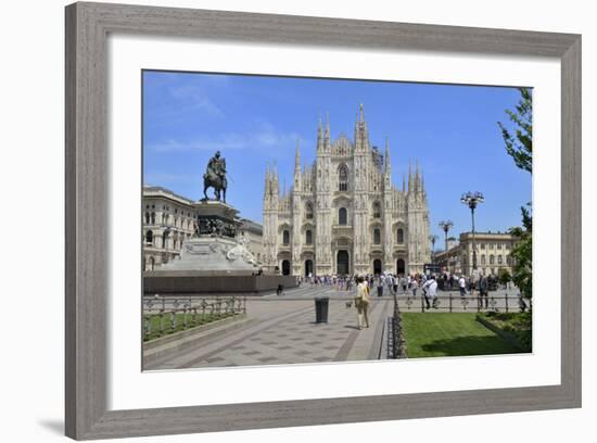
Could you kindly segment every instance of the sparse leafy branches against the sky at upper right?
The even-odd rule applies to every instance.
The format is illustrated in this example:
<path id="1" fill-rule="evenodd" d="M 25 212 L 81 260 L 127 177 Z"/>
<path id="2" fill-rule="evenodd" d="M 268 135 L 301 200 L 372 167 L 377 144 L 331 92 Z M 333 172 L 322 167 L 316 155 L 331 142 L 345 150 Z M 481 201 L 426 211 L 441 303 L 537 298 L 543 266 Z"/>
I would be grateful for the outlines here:
<path id="1" fill-rule="evenodd" d="M 506 114 L 516 125 L 511 134 L 504 124 L 498 122 L 506 151 L 521 169 L 533 172 L 533 100 L 531 89 L 519 88 L 520 100 L 516 111 L 506 110 Z"/>

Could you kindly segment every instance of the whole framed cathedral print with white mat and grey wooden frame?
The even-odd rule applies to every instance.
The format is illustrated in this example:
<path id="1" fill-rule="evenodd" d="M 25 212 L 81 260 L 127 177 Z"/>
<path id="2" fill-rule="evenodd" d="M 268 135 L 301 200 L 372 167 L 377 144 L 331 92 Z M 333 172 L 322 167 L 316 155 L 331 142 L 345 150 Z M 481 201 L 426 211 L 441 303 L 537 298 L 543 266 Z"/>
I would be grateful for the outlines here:
<path id="1" fill-rule="evenodd" d="M 580 47 L 67 7 L 67 435 L 579 407 Z"/>

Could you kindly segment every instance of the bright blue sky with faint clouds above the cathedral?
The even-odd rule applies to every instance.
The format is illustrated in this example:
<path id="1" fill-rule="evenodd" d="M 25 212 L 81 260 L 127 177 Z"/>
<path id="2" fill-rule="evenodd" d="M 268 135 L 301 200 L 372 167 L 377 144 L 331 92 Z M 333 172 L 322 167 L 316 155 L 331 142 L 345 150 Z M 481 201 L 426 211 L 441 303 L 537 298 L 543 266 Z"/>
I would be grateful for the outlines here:
<path id="1" fill-rule="evenodd" d="M 383 151 L 390 140 L 398 188 L 409 161 L 420 162 L 432 232 L 443 239 L 437 223 L 446 218 L 453 235 L 470 230 L 470 211 L 459 202 L 469 190 L 485 195 L 478 230 L 505 230 L 520 225 L 520 206 L 531 201 L 531 176 L 506 154 L 497 126 L 509 126 L 505 110 L 518 99 L 504 87 L 145 71 L 143 181 L 199 200 L 205 165 L 220 150 L 227 201 L 261 221 L 267 162 L 276 160 L 290 187 L 296 140 L 310 164 L 319 115 L 329 115 L 332 140 L 352 139 L 363 103 L 371 143 Z"/>

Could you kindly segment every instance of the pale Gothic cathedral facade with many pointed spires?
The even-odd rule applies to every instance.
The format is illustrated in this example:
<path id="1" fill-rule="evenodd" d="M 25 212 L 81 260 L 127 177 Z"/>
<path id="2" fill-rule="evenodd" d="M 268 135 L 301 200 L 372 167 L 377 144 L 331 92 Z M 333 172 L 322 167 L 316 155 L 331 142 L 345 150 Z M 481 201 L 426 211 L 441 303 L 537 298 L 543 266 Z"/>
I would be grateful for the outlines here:
<path id="1" fill-rule="evenodd" d="M 293 185 L 280 192 L 267 168 L 263 202 L 263 264 L 282 274 L 422 273 L 430 263 L 429 208 L 419 165 L 392 182 L 390 147 L 371 147 L 363 105 L 354 140 L 317 130 L 316 160 L 301 166 L 296 145 Z"/>

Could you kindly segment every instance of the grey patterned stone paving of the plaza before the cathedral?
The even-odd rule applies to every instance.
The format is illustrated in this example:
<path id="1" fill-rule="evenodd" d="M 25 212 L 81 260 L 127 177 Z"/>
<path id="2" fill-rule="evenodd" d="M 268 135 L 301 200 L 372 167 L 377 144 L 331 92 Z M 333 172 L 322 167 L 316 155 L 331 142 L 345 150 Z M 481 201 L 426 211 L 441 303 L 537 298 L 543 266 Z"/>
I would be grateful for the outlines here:
<path id="1" fill-rule="evenodd" d="M 448 312 L 449 292 L 440 292 L 440 307 Z M 495 306 L 505 307 L 506 291 L 492 292 Z M 388 357 L 388 318 L 392 316 L 394 298 L 386 291 L 378 298 L 371 294 L 370 327 L 357 329 L 354 304 L 347 306 L 355 291 L 339 291 L 331 286 L 305 284 L 281 295 L 247 298 L 246 317 L 201 332 L 196 344 L 152 358 L 144 369 L 182 369 L 198 367 L 284 365 L 304 363 L 384 359 Z M 315 321 L 317 296 L 329 298 L 328 322 Z M 452 292 L 453 312 L 475 312 L 477 300 L 461 303 L 458 292 Z M 518 307 L 516 293 L 510 291 L 510 309 Z M 398 293 L 403 312 L 421 312 L 421 296 Z M 411 301 L 410 304 L 409 300 Z M 490 299 L 491 300 L 491 299 Z"/>

